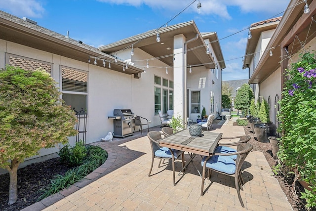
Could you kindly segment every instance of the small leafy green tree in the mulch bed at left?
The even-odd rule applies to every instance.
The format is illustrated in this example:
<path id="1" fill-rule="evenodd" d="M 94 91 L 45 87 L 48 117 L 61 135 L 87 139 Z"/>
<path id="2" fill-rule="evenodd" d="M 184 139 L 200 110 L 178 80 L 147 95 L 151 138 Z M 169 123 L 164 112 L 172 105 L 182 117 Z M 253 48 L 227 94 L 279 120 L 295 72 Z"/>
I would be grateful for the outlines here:
<path id="1" fill-rule="evenodd" d="M 9 205 L 17 200 L 19 164 L 77 133 L 76 115 L 62 104 L 56 84 L 41 69 L 0 70 L 0 168 L 9 171 Z"/>

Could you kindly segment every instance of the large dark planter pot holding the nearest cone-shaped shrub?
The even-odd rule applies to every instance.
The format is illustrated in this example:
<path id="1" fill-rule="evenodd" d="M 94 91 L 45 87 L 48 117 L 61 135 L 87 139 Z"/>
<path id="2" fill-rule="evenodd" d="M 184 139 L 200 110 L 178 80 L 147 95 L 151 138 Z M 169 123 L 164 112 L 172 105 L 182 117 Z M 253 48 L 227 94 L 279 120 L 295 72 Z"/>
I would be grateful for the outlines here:
<path id="1" fill-rule="evenodd" d="M 269 136 L 276 136 L 276 125 L 272 122 L 270 123 L 256 123 L 253 126 L 255 134 L 258 141 L 260 142 L 269 142 Z"/>

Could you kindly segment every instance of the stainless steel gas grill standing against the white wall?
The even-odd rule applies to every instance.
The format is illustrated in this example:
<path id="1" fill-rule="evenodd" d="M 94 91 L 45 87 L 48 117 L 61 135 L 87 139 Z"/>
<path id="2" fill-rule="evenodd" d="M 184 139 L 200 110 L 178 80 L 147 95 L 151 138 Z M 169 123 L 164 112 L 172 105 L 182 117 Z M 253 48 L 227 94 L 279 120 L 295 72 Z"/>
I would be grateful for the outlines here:
<path id="1" fill-rule="evenodd" d="M 134 113 L 130 109 L 114 109 L 113 115 L 108 119 L 113 119 L 114 137 L 124 138 L 133 135 Z"/>

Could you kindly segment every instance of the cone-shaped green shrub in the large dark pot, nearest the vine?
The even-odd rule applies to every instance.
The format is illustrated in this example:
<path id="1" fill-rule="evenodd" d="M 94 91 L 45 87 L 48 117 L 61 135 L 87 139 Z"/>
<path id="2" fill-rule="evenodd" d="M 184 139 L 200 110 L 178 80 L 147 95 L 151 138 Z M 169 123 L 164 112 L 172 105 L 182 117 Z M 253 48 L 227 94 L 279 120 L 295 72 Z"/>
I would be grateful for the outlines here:
<path id="1" fill-rule="evenodd" d="M 269 105 L 263 98 L 258 112 L 259 123 L 254 124 L 255 134 L 258 141 L 269 142 L 269 136 L 276 136 L 276 125 L 270 122 Z"/>

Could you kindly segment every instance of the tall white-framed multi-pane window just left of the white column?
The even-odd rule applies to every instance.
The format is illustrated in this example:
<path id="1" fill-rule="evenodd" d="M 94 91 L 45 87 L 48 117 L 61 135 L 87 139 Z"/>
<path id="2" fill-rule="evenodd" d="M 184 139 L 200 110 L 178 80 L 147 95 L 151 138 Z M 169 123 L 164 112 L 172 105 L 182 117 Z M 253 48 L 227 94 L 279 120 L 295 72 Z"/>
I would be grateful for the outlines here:
<path id="1" fill-rule="evenodd" d="M 173 110 L 173 82 L 155 76 L 154 83 L 155 114 L 158 114 L 158 110 L 163 114 L 167 113 L 167 110 Z"/>

